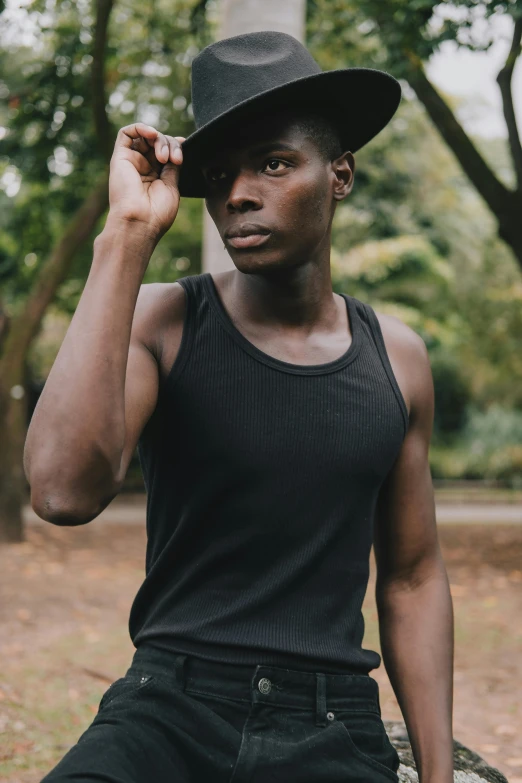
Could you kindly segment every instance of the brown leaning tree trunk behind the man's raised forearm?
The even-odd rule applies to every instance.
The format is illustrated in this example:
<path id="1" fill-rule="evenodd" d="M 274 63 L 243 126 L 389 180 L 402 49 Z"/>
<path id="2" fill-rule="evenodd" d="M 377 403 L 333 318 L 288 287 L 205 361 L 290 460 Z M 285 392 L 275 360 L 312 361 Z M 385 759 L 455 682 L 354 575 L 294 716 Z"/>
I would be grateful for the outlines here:
<path id="1" fill-rule="evenodd" d="M 23 469 L 27 430 L 27 352 L 76 251 L 90 237 L 108 206 L 108 176 L 104 173 L 42 265 L 21 313 L 11 319 L 3 340 L 0 358 L 0 542 L 25 540 L 22 508 L 27 500 Z"/>

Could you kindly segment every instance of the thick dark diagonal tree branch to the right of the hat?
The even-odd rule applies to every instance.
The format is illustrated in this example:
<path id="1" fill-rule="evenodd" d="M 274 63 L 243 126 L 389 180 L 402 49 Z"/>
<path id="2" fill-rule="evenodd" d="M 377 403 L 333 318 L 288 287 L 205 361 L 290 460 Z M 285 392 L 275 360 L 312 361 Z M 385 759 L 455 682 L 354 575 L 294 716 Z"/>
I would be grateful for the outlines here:
<path id="1" fill-rule="evenodd" d="M 427 78 L 417 55 L 410 51 L 405 54 L 410 62 L 408 81 L 435 127 L 492 212 L 497 217 L 503 215 L 506 204 L 513 196 L 512 191 L 490 169 L 448 104 Z"/>

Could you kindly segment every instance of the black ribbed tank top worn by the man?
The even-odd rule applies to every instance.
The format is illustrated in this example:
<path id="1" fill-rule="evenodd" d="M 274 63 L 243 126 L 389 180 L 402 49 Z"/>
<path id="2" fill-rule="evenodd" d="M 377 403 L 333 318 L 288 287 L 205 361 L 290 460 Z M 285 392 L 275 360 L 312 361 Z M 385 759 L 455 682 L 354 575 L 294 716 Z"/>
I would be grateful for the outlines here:
<path id="1" fill-rule="evenodd" d="M 361 606 L 378 490 L 408 413 L 373 309 L 343 294 L 353 335 L 295 365 L 234 326 L 210 274 L 186 313 L 138 454 L 146 576 L 135 647 L 238 664 L 368 673 Z"/>

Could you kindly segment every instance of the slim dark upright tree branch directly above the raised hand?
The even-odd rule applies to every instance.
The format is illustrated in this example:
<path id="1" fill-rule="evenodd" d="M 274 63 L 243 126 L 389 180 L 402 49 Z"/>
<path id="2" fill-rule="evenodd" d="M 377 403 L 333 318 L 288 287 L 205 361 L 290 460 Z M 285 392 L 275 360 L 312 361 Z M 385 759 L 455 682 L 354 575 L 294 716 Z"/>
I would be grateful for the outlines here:
<path id="1" fill-rule="evenodd" d="M 116 134 L 107 117 L 105 106 L 105 55 L 107 50 L 107 29 L 114 0 L 96 0 L 96 26 L 92 49 L 91 88 L 94 127 L 98 144 L 104 158 L 109 161 L 114 148 Z"/>

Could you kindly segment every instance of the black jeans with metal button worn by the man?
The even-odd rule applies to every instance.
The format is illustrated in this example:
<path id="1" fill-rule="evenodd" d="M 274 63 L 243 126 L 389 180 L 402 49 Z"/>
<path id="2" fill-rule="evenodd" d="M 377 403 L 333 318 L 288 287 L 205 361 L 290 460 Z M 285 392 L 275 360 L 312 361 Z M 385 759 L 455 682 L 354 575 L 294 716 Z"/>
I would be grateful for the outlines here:
<path id="1" fill-rule="evenodd" d="M 142 646 L 42 783 L 397 783 L 399 761 L 369 675 Z"/>

